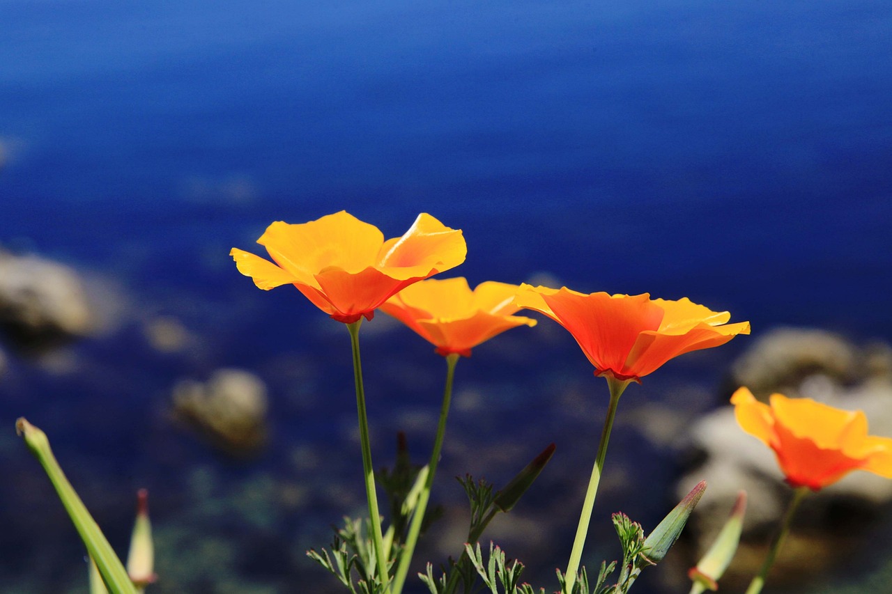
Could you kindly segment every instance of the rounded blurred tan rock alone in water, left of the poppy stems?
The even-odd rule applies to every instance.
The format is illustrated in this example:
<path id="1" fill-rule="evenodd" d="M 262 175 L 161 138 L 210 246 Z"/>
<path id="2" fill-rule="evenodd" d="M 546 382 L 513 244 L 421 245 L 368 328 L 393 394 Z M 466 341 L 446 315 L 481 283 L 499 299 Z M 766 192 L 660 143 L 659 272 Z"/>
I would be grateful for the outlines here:
<path id="1" fill-rule="evenodd" d="M 180 380 L 173 407 L 176 417 L 228 454 L 250 456 L 266 443 L 267 388 L 250 372 L 218 369 L 206 384 Z"/>

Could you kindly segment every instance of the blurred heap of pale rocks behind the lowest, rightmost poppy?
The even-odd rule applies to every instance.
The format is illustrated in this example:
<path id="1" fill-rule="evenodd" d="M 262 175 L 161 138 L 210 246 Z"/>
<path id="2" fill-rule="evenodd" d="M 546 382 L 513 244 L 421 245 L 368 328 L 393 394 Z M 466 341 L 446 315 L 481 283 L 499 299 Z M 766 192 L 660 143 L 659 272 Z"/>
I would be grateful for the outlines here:
<path id="1" fill-rule="evenodd" d="M 861 409 L 870 433 L 892 436 L 892 350 L 875 344 L 861 349 L 821 330 L 781 329 L 766 334 L 734 363 L 735 385 L 746 385 L 767 400 L 772 392 L 808 397 L 831 406 Z M 744 433 L 731 406 L 690 425 L 684 458 L 696 461 L 676 484 L 677 497 L 706 480 L 709 487 L 692 516 L 691 565 L 706 551 L 727 517 L 739 490 L 747 491 L 747 516 L 740 549 L 723 588 L 745 588 L 764 560 L 792 490 L 771 449 Z M 690 465 L 689 465 L 690 466 Z M 892 507 L 892 481 L 854 471 L 806 498 L 790 540 L 781 549 L 772 582 L 801 582 L 846 564 L 856 551 L 870 549 L 865 536 Z"/>

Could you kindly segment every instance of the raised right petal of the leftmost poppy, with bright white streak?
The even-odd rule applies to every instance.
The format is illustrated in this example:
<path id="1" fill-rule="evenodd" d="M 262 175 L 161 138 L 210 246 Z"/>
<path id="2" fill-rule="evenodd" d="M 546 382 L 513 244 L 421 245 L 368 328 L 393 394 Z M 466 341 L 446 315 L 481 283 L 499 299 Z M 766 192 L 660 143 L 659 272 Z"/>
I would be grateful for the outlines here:
<path id="1" fill-rule="evenodd" d="M 446 227 L 426 212 L 401 237 L 389 239 L 377 255 L 377 267 L 393 278 L 426 277 L 465 261 L 467 244 L 460 229 Z"/>

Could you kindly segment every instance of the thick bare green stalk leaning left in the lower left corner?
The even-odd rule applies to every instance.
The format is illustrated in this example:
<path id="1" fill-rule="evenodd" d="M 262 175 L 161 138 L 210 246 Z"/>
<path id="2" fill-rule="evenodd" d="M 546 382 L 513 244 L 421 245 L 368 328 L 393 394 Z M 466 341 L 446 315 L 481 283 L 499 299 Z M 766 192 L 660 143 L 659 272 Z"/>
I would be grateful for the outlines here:
<path id="1" fill-rule="evenodd" d="M 133 582 L 130 582 L 124 565 L 121 564 L 93 516 L 90 516 L 84 502 L 80 500 L 78 493 L 74 491 L 74 487 L 62 472 L 62 467 L 59 466 L 53 455 L 53 450 L 50 448 L 50 441 L 46 438 L 46 433 L 31 425 L 24 417 L 16 421 L 15 428 L 24 438 L 28 449 L 40 462 L 40 466 L 44 467 L 50 483 L 53 483 L 59 499 L 62 500 L 62 506 L 65 507 L 71 522 L 78 530 L 80 539 L 87 545 L 87 551 L 90 557 L 95 560 L 111 594 L 136 594 L 136 588 Z"/>

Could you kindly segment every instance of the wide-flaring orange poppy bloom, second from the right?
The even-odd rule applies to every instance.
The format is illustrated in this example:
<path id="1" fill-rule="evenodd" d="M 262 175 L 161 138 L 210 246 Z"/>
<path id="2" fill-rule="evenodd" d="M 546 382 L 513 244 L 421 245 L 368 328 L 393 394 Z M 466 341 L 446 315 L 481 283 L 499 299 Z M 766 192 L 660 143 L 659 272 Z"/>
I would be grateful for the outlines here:
<path id="1" fill-rule="evenodd" d="M 749 334 L 749 322 L 726 324 L 727 311 L 712 311 L 688 298 L 577 293 L 566 287 L 521 285 L 515 303 L 564 326 L 595 366 L 595 375 L 636 381 L 686 352 Z"/>

